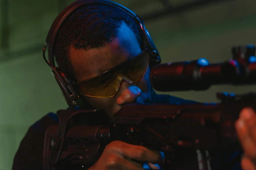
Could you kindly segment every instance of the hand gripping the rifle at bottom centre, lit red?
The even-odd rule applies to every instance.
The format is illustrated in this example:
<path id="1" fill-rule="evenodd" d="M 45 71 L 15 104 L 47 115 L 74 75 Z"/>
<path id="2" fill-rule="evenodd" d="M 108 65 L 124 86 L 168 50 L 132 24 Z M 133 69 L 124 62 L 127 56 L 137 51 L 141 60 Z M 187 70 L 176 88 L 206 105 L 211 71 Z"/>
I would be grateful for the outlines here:
<path id="1" fill-rule="evenodd" d="M 142 146 L 113 141 L 105 148 L 99 160 L 88 170 L 143 170 L 141 164 L 133 162 L 131 159 L 149 162 L 148 165 L 152 169 L 159 169 L 151 162 L 160 161 L 161 154 Z"/>

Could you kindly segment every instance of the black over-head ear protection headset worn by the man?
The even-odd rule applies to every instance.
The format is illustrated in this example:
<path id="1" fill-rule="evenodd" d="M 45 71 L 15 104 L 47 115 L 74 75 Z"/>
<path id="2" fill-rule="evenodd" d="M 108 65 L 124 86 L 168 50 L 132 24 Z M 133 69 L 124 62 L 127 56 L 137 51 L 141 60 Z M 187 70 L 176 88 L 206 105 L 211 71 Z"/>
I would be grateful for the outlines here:
<path id="1" fill-rule="evenodd" d="M 78 1 L 76 1 L 72 4 L 70 4 L 68 7 L 66 7 L 54 20 L 54 22 L 48 32 L 48 35 L 46 37 L 46 43 L 43 48 L 43 59 L 52 68 L 52 74 L 55 77 L 57 83 L 59 84 L 62 94 L 63 94 L 64 98 L 66 99 L 68 106 L 71 108 L 74 108 L 76 106 L 84 108 L 86 106 L 88 107 L 89 104 L 87 104 L 87 102 L 84 101 L 79 96 L 79 92 L 77 92 L 76 88 L 74 88 L 74 85 L 69 80 L 69 78 L 67 78 L 61 72 L 61 70 L 55 66 L 53 47 L 54 47 L 54 42 L 55 42 L 56 36 L 58 34 L 58 30 L 59 30 L 62 22 L 65 20 L 65 18 L 71 12 L 76 10 L 77 8 L 84 6 L 84 5 L 89 5 L 89 4 L 109 5 L 109 6 L 117 7 L 119 9 L 125 11 L 129 16 L 131 16 L 135 20 L 136 23 L 138 23 L 140 25 L 140 28 L 141 28 L 140 31 L 142 32 L 143 40 L 149 50 L 149 59 L 150 59 L 149 66 L 150 66 L 150 68 L 152 68 L 154 65 L 161 63 L 161 58 L 160 58 L 159 52 L 158 52 L 151 36 L 149 35 L 148 31 L 145 29 L 143 20 L 138 15 L 136 15 L 133 11 L 129 10 L 128 8 L 122 6 L 118 3 L 115 3 L 115 2 L 112 2 L 109 0 L 78 0 Z M 48 60 L 45 57 L 45 50 L 46 50 L 47 45 L 49 45 Z"/>

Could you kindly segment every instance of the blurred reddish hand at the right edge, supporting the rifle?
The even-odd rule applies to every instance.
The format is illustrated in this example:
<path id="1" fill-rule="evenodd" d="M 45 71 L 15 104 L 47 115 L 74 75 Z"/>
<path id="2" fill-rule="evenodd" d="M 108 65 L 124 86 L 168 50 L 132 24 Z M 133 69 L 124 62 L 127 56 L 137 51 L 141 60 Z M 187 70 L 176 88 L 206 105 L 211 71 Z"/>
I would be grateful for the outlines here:
<path id="1" fill-rule="evenodd" d="M 256 170 L 256 114 L 252 108 L 240 112 L 235 128 L 245 154 L 241 166 L 243 170 Z"/>

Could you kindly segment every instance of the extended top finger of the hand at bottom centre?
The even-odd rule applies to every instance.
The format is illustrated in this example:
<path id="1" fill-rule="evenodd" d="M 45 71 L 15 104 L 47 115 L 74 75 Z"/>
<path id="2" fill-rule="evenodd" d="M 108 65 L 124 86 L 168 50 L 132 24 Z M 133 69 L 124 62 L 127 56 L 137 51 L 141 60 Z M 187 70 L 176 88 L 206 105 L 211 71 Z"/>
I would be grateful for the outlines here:
<path id="1" fill-rule="evenodd" d="M 123 157 L 138 161 L 158 162 L 161 160 L 161 154 L 158 151 L 150 150 L 143 146 L 131 145 L 122 141 L 111 142 L 109 148 Z"/>

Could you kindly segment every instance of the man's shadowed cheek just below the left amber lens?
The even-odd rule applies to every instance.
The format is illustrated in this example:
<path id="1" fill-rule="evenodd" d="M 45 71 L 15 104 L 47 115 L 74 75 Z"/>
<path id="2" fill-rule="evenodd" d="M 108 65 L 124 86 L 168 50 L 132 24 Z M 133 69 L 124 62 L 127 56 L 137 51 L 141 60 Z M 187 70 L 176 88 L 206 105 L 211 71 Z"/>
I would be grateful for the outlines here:
<path id="1" fill-rule="evenodd" d="M 89 96 L 84 96 L 85 99 L 88 101 L 88 103 L 93 106 L 96 109 L 100 110 L 108 110 L 108 108 L 111 107 L 113 104 L 113 97 L 110 98 L 96 98 L 96 97 L 89 97 Z"/>

